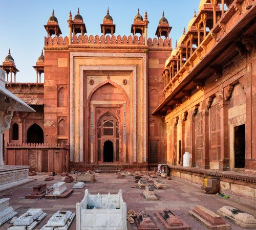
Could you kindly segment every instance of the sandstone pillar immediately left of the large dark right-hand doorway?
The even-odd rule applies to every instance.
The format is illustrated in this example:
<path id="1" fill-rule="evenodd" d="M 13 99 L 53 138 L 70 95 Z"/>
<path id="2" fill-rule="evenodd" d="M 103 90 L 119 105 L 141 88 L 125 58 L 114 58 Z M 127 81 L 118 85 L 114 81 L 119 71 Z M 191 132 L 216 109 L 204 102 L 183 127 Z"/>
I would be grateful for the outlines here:
<path id="1" fill-rule="evenodd" d="M 221 90 L 223 95 L 223 89 Z M 228 101 L 223 100 L 219 102 L 220 117 L 221 117 L 221 157 L 219 159 L 219 170 L 229 170 L 229 149 L 228 149 Z"/>

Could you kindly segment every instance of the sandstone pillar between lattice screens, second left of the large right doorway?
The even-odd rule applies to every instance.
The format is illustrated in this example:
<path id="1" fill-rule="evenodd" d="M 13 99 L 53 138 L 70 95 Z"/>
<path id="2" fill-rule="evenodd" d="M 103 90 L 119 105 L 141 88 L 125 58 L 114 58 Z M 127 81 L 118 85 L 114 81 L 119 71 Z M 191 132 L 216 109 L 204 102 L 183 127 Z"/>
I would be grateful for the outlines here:
<path id="1" fill-rule="evenodd" d="M 202 168 L 210 168 L 210 154 L 209 154 L 209 110 L 203 109 L 203 131 L 204 131 L 204 148 L 202 156 Z"/>

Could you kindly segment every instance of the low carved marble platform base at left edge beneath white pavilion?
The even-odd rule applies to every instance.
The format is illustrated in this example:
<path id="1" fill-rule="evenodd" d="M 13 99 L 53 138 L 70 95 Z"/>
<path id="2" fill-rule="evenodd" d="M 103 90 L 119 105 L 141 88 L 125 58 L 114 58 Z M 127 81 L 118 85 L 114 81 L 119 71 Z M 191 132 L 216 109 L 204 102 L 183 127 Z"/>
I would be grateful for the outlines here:
<path id="1" fill-rule="evenodd" d="M 29 180 L 29 166 L 0 166 L 0 191 L 21 185 Z"/>

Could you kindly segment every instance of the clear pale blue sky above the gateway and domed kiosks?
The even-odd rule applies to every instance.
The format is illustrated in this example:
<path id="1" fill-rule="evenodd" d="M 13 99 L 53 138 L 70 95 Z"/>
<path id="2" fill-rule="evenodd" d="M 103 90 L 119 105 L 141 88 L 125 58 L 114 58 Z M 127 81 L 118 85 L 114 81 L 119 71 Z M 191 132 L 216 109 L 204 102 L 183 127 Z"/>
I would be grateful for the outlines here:
<path id="1" fill-rule="evenodd" d="M 44 25 L 51 16 L 54 9 L 55 16 L 58 18 L 62 36 L 68 36 L 69 11 L 74 17 L 77 8 L 86 24 L 87 34 L 99 34 L 100 24 L 110 9 L 110 15 L 116 24 L 115 35 L 130 35 L 131 24 L 137 9 L 144 18 L 150 21 L 148 25 L 148 37 L 155 37 L 158 21 L 164 10 L 165 17 L 168 19 L 172 28 L 172 46 L 175 40 L 179 39 L 183 27 L 187 27 L 188 21 L 193 17 L 194 9 L 198 12 L 200 0 L 167 0 L 167 1 L 0 1 L 0 63 L 8 54 L 9 48 L 14 58 L 16 67 L 20 71 L 16 75 L 16 82 L 35 82 L 36 74 L 32 65 L 35 64 L 40 56 L 41 49 L 44 47 L 44 37 L 47 36 Z"/>

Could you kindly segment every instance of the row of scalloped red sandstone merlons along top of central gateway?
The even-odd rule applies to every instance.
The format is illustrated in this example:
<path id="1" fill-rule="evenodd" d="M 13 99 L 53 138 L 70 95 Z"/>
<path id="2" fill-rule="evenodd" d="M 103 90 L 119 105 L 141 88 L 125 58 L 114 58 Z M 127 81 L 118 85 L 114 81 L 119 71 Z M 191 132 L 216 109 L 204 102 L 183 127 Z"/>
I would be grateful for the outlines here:
<path id="1" fill-rule="evenodd" d="M 104 36 L 104 35 L 73 35 L 72 42 L 69 44 L 69 38 L 68 37 L 45 37 L 45 47 L 73 47 L 74 45 L 79 45 L 79 47 L 86 46 L 86 47 L 100 47 L 105 48 L 106 46 L 111 46 L 111 48 L 114 48 L 116 46 L 119 48 L 120 46 L 133 46 L 133 47 L 141 47 L 145 46 L 144 38 L 143 36 L 120 36 L 117 37 L 115 35 L 113 36 Z M 171 48 L 172 40 L 169 38 L 162 39 L 160 38 L 148 38 L 147 39 L 147 46 L 148 49 L 169 49 Z"/>

